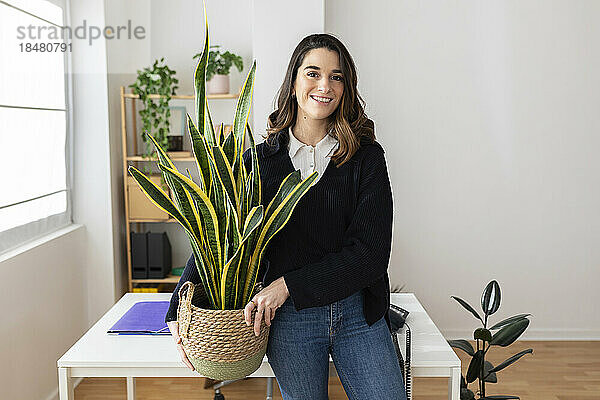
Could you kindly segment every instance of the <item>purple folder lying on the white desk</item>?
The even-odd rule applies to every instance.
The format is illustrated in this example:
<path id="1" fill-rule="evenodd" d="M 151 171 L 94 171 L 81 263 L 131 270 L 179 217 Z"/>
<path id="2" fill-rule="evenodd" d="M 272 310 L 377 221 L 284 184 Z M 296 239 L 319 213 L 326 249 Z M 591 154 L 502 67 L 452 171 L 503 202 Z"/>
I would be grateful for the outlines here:
<path id="1" fill-rule="evenodd" d="M 119 335 L 170 335 L 165 322 L 168 301 L 140 301 L 135 303 L 107 333 Z"/>

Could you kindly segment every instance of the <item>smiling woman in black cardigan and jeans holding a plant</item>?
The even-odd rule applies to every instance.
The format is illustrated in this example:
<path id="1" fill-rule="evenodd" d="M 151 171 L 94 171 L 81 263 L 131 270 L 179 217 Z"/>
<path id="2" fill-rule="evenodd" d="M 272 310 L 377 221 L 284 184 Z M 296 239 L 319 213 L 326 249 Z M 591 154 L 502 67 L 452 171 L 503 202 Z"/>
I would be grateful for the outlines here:
<path id="1" fill-rule="evenodd" d="M 329 355 L 349 399 L 406 399 L 388 316 L 391 185 L 356 85 L 338 39 L 304 38 L 256 146 L 262 204 L 281 196 L 294 170 L 318 174 L 271 239 L 258 271 L 264 289 L 244 307 L 256 336 L 263 320 L 270 326 L 266 354 L 286 400 L 328 398 Z M 244 154 L 247 171 L 252 158 Z M 200 282 L 193 257 L 178 288 L 188 280 Z M 174 294 L 172 331 L 178 304 Z"/>

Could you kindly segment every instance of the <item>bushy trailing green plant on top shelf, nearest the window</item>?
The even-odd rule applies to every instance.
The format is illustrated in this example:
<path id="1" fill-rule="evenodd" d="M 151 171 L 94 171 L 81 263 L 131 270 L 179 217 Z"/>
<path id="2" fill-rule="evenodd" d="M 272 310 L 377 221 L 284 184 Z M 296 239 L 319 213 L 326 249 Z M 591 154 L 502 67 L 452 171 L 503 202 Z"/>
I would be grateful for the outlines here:
<path id="1" fill-rule="evenodd" d="M 155 60 L 151 68 L 137 71 L 137 79 L 134 84 L 129 85 L 133 92 L 140 96 L 144 108 L 140 110 L 142 119 L 142 132 L 152 135 L 162 149 L 167 151 L 168 134 L 170 129 L 169 101 L 178 88 L 179 80 L 175 78 L 175 71 L 164 63 L 164 57 Z M 151 96 L 151 95 L 159 95 Z M 152 141 L 148 140 L 146 134 L 142 134 L 142 140 L 146 145 L 143 157 L 150 158 L 154 152 Z"/>

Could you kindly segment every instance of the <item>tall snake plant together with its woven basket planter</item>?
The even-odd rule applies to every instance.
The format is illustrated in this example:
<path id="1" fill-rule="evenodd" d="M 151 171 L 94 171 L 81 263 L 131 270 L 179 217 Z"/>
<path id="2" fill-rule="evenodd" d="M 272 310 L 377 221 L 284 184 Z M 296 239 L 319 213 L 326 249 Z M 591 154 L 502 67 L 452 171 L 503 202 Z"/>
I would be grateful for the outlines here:
<path id="1" fill-rule="evenodd" d="M 214 129 L 206 102 L 208 45 L 207 28 L 194 76 L 196 122 L 187 114 L 198 182 L 189 173 L 180 173 L 151 136 L 173 200 L 135 167 L 130 166 L 129 172 L 152 202 L 187 233 L 202 283 L 186 282 L 181 287 L 179 335 L 196 371 L 227 380 L 251 374 L 262 362 L 269 328 L 263 320 L 261 334 L 255 336 L 253 326 L 246 326 L 244 306 L 261 289 L 256 280 L 266 246 L 287 223 L 317 173 L 304 180 L 300 171 L 290 173 L 269 205 L 263 206 L 257 152 L 247 123 L 256 62 L 238 98 L 233 130 L 225 136 L 222 129 Z M 244 158 L 246 134 L 250 150 Z"/>

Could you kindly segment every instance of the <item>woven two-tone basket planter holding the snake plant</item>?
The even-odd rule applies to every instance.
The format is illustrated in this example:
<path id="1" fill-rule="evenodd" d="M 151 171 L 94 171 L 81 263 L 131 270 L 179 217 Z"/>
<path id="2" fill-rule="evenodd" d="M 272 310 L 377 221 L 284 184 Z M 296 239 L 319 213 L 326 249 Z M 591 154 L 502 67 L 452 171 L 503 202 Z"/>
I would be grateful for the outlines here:
<path id="1" fill-rule="evenodd" d="M 264 319 L 256 336 L 254 325 L 246 326 L 244 310 L 209 310 L 194 305 L 207 303 L 202 285 L 186 282 L 179 289 L 177 321 L 188 359 L 200 375 L 211 379 L 241 379 L 252 374 L 267 350 L 269 327 Z"/>

